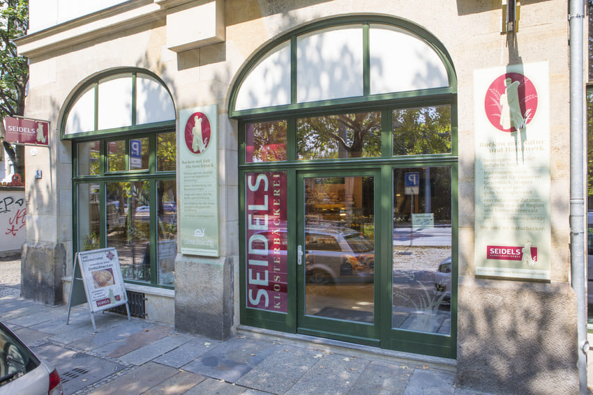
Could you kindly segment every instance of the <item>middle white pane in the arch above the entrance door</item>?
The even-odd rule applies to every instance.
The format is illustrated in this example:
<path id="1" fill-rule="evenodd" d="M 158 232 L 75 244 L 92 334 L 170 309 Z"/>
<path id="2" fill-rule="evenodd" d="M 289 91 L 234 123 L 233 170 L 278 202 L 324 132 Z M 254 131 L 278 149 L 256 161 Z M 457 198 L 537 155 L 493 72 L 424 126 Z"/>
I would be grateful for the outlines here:
<path id="1" fill-rule="evenodd" d="M 296 38 L 299 103 L 363 95 L 363 31 L 339 26 Z"/>

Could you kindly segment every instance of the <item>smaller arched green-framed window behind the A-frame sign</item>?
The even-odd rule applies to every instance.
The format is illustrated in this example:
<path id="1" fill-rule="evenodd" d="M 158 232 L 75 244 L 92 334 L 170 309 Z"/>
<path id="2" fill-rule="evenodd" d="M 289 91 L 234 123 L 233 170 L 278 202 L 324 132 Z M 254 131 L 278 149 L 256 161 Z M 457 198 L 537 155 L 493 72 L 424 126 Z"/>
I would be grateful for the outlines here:
<path id="1" fill-rule="evenodd" d="M 73 141 L 75 251 L 117 247 L 126 281 L 174 286 L 177 254 L 175 107 L 140 69 L 91 77 L 66 103 Z"/>

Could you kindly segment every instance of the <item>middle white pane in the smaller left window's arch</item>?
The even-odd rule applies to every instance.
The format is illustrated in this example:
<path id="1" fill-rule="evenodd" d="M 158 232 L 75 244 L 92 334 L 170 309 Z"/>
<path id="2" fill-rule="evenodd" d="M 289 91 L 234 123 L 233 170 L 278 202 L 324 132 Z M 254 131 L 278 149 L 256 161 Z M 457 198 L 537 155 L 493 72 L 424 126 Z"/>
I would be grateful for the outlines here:
<path id="1" fill-rule="evenodd" d="M 98 129 L 132 125 L 132 76 L 117 75 L 99 82 Z"/>

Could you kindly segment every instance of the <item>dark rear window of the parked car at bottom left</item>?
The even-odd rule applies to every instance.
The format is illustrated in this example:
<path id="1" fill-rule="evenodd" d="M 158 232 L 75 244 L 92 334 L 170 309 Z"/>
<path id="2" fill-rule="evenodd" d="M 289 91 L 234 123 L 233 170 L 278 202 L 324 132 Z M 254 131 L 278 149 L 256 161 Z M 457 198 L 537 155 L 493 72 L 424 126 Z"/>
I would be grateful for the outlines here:
<path id="1" fill-rule="evenodd" d="M 0 386 L 39 366 L 39 359 L 0 323 Z"/>

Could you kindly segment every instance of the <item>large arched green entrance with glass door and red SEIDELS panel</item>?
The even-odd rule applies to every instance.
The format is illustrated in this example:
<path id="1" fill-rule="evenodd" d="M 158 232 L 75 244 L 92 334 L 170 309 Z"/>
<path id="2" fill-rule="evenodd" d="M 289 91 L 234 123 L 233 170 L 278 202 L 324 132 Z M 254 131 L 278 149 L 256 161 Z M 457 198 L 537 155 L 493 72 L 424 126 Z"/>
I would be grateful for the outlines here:
<path id="1" fill-rule="evenodd" d="M 440 42 L 394 18 L 325 20 L 270 42 L 235 86 L 241 323 L 454 358 L 456 75 Z"/>

